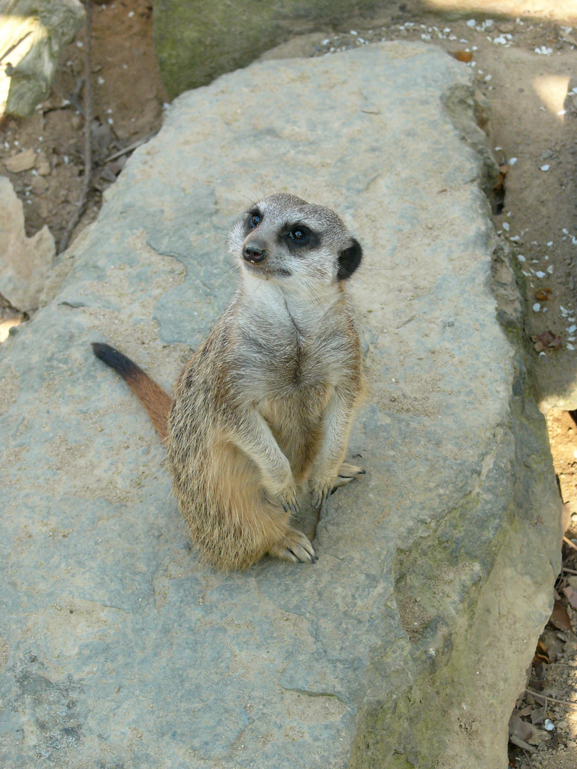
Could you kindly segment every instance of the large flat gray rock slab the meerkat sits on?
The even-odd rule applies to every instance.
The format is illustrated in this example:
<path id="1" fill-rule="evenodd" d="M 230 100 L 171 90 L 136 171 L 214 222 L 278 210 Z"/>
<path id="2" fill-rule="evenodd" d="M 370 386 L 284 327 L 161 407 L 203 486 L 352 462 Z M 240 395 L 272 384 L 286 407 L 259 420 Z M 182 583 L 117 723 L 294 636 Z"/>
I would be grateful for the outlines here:
<path id="1" fill-rule="evenodd" d="M 2 352 L 2 765 L 505 767 L 559 498 L 473 106 L 435 48 L 366 47 L 182 95 L 135 153 Z M 232 293 L 227 228 L 272 191 L 365 247 L 368 474 L 322 511 L 317 564 L 218 574 L 89 342 L 168 388 Z"/>

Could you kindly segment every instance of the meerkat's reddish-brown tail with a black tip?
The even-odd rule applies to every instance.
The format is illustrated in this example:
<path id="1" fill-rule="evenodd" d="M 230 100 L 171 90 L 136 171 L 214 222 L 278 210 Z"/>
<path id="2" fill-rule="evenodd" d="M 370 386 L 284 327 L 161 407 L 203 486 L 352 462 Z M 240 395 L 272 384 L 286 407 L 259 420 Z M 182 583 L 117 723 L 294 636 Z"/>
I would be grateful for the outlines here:
<path id="1" fill-rule="evenodd" d="M 158 434 L 164 441 L 167 433 L 168 414 L 172 408 L 172 398 L 156 382 L 151 379 L 142 368 L 137 366 L 126 355 L 122 355 L 110 345 L 100 342 L 92 342 L 92 351 L 96 358 L 117 374 L 121 375 L 128 387 L 136 395 L 146 409 L 150 421 L 155 426 Z"/>

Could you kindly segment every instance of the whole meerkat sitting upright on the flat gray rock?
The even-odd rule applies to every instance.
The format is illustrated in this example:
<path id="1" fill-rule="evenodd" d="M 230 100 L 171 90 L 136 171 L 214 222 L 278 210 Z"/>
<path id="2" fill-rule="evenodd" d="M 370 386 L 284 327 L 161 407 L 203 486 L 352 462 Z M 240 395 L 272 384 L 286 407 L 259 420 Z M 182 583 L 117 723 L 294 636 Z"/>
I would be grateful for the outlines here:
<path id="1" fill-rule="evenodd" d="M 364 471 L 345 463 L 364 391 L 347 281 L 362 248 L 328 208 L 270 195 L 228 238 L 238 288 L 178 376 L 174 399 L 108 345 L 165 442 L 173 490 L 202 558 L 244 569 L 265 554 L 316 561 L 290 525 L 306 485 L 321 508 Z"/>

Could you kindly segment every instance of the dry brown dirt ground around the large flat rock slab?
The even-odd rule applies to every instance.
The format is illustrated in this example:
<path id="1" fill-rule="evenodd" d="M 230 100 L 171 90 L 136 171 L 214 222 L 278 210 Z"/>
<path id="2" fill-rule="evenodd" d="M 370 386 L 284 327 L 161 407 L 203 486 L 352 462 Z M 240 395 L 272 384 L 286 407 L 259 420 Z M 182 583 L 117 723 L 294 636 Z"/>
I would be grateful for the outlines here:
<path id="1" fill-rule="evenodd" d="M 489 5 L 502 15 L 470 12 L 451 18 L 424 9 L 417 0 L 395 2 L 370 25 L 355 21 L 342 30 L 301 36 L 267 58 L 327 55 L 395 39 L 425 41 L 470 58 L 463 66 L 472 68 L 479 91 L 489 99 L 489 136 L 506 171 L 506 194 L 495 225 L 526 275 L 526 331 L 535 338 L 532 354 L 565 502 L 566 535 L 577 541 L 577 414 L 564 410 L 577 408 L 577 75 L 572 75 L 577 73 L 577 7 L 553 0 L 503 0 L 485 4 L 485 10 Z M 88 208 L 73 237 L 94 221 L 102 191 L 122 172 L 129 153 L 118 152 L 158 131 L 165 101 L 152 46 L 152 0 L 95 3 L 91 39 L 95 168 Z M 82 188 L 85 44 L 82 32 L 65 52 L 52 95 L 32 118 L 0 123 L 0 173 L 10 178 L 24 203 L 27 235 L 47 224 L 57 243 Z M 3 161 L 30 148 L 39 155 L 35 168 L 8 171 Z M 18 309 L 29 315 L 35 310 Z M 548 331 L 549 337 L 537 338 Z M 568 615 L 545 631 L 543 663 L 532 671 L 531 687 L 566 704 L 549 699 L 543 707 L 542 697 L 531 695 L 519 701 L 522 720 L 535 721 L 536 731 L 528 737 L 529 747 L 511 746 L 511 766 L 577 766 L 577 643 L 567 624 L 577 627 L 577 611 L 565 595 L 572 595 L 575 581 L 577 596 L 577 548 L 565 544 L 563 555 L 558 590 Z M 555 725 L 553 731 L 545 731 L 545 718 Z"/>

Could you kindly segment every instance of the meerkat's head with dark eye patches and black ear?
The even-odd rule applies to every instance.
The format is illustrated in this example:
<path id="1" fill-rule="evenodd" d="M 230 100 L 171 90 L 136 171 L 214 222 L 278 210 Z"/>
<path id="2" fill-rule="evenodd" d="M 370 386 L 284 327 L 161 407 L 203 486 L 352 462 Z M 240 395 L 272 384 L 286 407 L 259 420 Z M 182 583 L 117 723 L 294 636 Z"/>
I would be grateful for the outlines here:
<path id="1" fill-rule="evenodd" d="M 288 286 L 350 278 L 362 248 L 329 208 L 278 193 L 246 211 L 228 238 L 232 256 L 250 275 Z"/>

